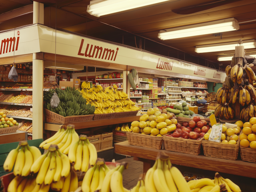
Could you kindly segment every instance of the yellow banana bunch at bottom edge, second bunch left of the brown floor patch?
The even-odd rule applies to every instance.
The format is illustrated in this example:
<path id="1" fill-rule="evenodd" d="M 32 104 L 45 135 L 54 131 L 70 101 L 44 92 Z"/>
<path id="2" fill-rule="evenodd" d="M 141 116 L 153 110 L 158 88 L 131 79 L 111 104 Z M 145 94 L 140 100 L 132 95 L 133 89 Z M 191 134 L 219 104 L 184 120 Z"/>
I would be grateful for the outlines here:
<path id="1" fill-rule="evenodd" d="M 108 166 L 106 166 L 104 159 L 98 158 L 94 167 L 89 168 L 84 175 L 82 192 L 94 192 L 100 190 L 103 192 L 106 190 L 107 185 L 104 184 L 104 181 L 109 179 L 109 174 L 110 172 L 113 172 L 113 170 L 114 169 L 110 170 Z"/>

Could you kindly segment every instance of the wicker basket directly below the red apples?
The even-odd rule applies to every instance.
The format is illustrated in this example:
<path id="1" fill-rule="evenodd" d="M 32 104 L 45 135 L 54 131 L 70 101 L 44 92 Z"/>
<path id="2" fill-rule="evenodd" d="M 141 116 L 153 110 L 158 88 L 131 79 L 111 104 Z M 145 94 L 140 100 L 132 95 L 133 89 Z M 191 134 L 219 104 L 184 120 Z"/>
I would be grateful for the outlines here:
<path id="1" fill-rule="evenodd" d="M 191 155 L 199 155 L 202 140 L 183 139 L 164 136 L 164 147 L 166 151 L 175 151 Z"/>

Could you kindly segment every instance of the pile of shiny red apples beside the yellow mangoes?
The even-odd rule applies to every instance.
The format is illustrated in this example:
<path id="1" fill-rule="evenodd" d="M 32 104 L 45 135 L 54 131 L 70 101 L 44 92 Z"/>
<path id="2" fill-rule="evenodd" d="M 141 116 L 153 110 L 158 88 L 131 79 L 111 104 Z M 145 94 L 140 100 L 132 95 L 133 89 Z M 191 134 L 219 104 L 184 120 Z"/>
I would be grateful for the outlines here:
<path id="1" fill-rule="evenodd" d="M 183 122 L 182 124 L 177 123 L 176 129 L 171 132 L 170 135 L 166 136 L 201 140 L 209 129 L 210 123 L 207 124 L 205 120 L 201 120 L 200 117 L 195 116 L 193 120 L 189 122 Z"/>

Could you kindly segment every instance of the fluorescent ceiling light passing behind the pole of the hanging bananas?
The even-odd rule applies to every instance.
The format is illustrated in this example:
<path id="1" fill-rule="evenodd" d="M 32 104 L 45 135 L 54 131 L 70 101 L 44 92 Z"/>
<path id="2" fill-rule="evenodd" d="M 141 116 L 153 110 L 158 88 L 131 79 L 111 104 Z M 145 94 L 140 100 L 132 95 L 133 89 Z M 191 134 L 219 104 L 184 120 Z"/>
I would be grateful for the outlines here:
<path id="1" fill-rule="evenodd" d="M 244 46 L 244 49 L 253 49 L 253 48 L 256 48 L 256 41 L 255 41 L 255 39 L 246 40 L 246 41 L 243 41 L 242 45 Z M 238 46 L 237 41 L 230 42 L 230 43 L 218 43 L 218 44 L 212 44 L 212 45 L 196 46 L 195 51 L 196 51 L 196 53 L 229 51 L 229 50 L 235 50 L 236 46 Z"/>

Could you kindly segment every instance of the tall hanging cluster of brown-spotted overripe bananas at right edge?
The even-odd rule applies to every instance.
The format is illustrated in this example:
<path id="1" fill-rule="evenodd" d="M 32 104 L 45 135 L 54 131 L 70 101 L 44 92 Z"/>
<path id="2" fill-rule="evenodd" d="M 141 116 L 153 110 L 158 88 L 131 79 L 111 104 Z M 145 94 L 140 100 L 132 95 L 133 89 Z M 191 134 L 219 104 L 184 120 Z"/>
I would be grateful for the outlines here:
<path id="1" fill-rule="evenodd" d="M 233 60 L 232 64 L 234 62 Z M 242 64 L 238 62 L 231 66 L 226 67 L 225 82 L 216 93 L 216 101 L 219 105 L 214 114 L 220 119 L 235 119 L 235 104 L 239 102 L 241 105 L 240 120 L 248 121 L 256 117 L 256 76 L 246 64 L 242 67 Z"/>

